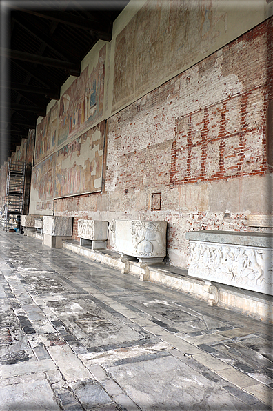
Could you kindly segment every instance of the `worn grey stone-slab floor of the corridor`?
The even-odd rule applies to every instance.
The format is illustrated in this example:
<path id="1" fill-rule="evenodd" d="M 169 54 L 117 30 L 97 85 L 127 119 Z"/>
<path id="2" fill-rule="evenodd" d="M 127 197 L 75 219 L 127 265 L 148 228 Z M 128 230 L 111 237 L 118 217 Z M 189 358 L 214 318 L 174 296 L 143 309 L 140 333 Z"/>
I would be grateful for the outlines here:
<path id="1" fill-rule="evenodd" d="M 272 328 L 0 232 L 0 410 L 271 410 Z"/>

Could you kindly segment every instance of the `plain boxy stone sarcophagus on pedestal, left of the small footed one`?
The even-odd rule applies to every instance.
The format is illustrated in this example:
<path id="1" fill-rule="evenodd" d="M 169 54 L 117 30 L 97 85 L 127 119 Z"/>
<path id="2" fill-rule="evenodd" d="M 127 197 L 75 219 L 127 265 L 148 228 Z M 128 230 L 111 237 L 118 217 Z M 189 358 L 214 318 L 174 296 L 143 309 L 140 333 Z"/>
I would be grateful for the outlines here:
<path id="1" fill-rule="evenodd" d="M 44 216 L 43 244 L 50 248 L 62 248 L 63 240 L 72 239 L 73 217 Z"/>

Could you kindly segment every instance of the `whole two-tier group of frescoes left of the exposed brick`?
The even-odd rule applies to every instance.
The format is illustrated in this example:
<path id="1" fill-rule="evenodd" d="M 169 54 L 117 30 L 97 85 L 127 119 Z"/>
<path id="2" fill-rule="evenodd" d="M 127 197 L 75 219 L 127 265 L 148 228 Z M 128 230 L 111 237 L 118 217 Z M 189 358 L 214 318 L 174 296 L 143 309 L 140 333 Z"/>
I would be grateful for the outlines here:
<path id="1" fill-rule="evenodd" d="M 105 121 L 98 121 L 106 52 L 101 43 L 95 63 L 85 62 L 80 77 L 37 124 L 29 214 L 53 214 L 54 198 L 101 191 Z"/>

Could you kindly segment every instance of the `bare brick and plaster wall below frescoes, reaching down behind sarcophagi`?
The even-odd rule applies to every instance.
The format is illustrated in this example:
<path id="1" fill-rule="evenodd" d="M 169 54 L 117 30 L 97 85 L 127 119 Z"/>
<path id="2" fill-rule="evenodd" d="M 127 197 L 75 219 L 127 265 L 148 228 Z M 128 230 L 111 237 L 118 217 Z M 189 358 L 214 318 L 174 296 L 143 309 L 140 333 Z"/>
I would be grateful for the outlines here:
<path id="1" fill-rule="evenodd" d="M 54 201 L 55 214 L 74 217 L 74 239 L 79 218 L 168 221 L 166 260 L 185 267 L 185 232 L 257 231 L 247 214 L 271 212 L 272 21 L 108 119 L 105 190 Z"/>

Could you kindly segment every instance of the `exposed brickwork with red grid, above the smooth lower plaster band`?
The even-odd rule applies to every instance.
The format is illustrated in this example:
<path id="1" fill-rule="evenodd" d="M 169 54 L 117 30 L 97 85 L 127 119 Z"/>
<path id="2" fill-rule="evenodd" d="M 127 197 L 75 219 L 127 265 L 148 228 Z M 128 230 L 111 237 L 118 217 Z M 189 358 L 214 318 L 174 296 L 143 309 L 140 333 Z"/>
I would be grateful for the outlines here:
<path id="1" fill-rule="evenodd" d="M 263 174 L 267 21 L 109 119 L 105 190 Z"/>

